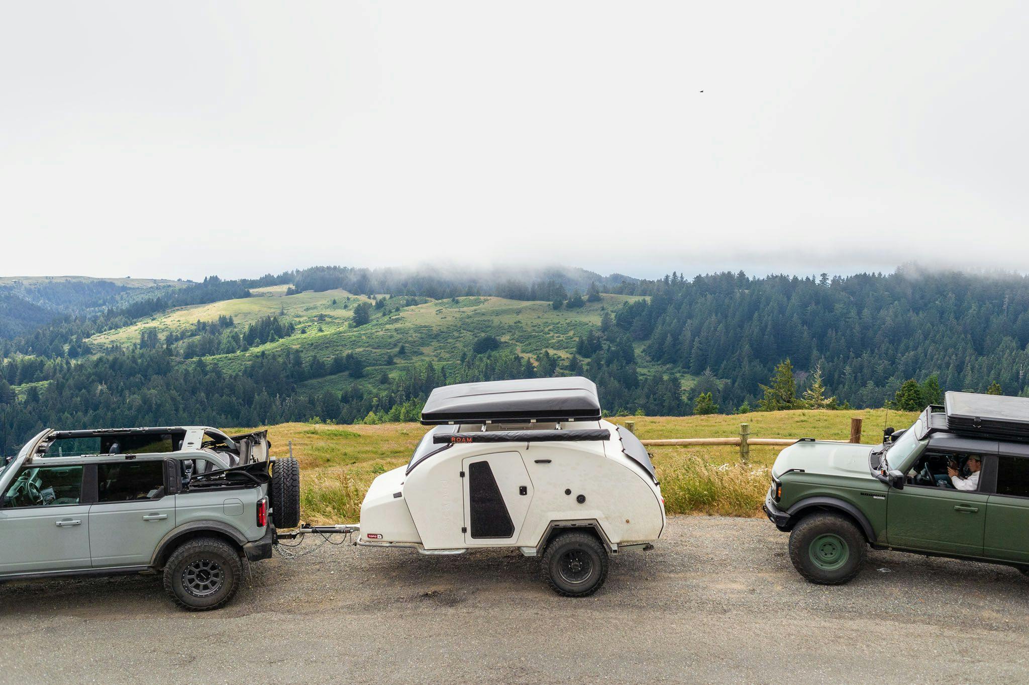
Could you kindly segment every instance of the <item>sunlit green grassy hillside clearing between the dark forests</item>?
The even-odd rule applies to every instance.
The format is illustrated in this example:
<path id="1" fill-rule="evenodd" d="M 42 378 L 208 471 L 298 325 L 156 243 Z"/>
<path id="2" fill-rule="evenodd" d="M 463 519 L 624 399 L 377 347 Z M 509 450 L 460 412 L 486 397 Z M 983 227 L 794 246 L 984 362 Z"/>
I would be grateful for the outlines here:
<path id="1" fill-rule="evenodd" d="M 283 324 L 292 323 L 295 331 L 263 345 L 232 354 L 207 356 L 207 362 L 225 371 L 239 371 L 248 361 L 261 355 L 297 351 L 305 360 L 318 358 L 328 362 L 336 355 L 356 354 L 366 365 L 365 385 L 375 385 L 382 373 L 395 373 L 411 364 L 431 361 L 446 364 L 459 361 L 484 335 L 493 335 L 501 344 L 523 356 L 535 358 L 544 350 L 560 358 L 569 357 L 576 340 L 599 326 L 605 311 L 614 312 L 623 302 L 641 299 L 630 295 L 602 295 L 599 302 L 587 302 L 573 310 L 554 310 L 549 302 L 523 301 L 502 297 L 456 297 L 429 299 L 396 296 L 372 308 L 371 320 L 352 326 L 354 308 L 360 302 L 375 303 L 376 298 L 354 295 L 345 290 L 286 294 L 285 285 L 255 288 L 251 297 L 228 299 L 209 304 L 176 308 L 157 313 L 132 325 L 105 331 L 88 338 L 94 350 L 112 345 L 132 347 L 147 330 L 159 339 L 169 333 L 184 347 L 201 333 L 197 322 L 213 322 L 232 317 L 236 328 L 244 328 L 265 317 L 276 317 Z M 383 296 L 385 297 L 385 296 Z M 404 353 L 399 354 L 403 346 Z M 392 364 L 388 363 L 392 358 Z M 341 390 L 353 383 L 346 373 L 305 381 L 300 389 L 322 392 Z"/>

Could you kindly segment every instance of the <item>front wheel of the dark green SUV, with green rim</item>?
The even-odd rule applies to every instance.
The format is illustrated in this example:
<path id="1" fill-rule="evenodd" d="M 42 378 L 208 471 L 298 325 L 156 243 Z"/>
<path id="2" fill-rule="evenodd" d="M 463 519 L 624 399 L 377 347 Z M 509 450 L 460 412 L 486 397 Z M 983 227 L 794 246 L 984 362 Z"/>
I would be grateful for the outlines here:
<path id="1" fill-rule="evenodd" d="M 789 560 L 808 581 L 842 585 L 861 570 L 867 541 L 854 521 L 840 514 L 805 516 L 789 534 Z"/>

